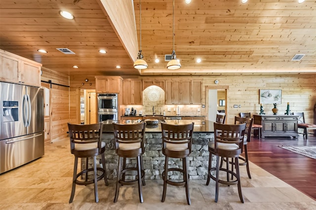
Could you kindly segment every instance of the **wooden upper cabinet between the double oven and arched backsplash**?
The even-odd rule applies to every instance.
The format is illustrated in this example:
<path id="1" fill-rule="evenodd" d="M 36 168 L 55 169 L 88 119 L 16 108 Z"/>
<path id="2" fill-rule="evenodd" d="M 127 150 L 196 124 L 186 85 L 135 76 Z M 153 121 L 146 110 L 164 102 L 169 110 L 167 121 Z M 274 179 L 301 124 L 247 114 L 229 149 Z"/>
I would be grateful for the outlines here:
<path id="1" fill-rule="evenodd" d="M 123 81 L 123 104 L 143 104 L 142 80 Z"/>

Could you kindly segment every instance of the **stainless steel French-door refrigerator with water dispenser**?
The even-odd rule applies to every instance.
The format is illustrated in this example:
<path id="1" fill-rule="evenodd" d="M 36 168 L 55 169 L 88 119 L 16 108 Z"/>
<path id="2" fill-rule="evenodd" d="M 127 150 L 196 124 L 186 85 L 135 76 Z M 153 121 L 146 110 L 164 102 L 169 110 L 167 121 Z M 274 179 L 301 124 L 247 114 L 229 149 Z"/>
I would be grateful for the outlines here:
<path id="1" fill-rule="evenodd" d="M 44 155 L 43 89 L 0 82 L 0 174 Z"/>

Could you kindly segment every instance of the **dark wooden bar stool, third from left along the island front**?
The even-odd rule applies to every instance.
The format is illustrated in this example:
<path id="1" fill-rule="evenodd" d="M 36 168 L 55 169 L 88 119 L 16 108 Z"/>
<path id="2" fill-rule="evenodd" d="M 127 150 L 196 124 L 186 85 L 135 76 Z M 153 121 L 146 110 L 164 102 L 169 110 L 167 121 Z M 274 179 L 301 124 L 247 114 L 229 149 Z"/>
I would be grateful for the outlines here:
<path id="1" fill-rule="evenodd" d="M 187 203 L 190 205 L 189 193 L 189 174 L 187 157 L 192 150 L 192 134 L 194 122 L 191 124 L 172 125 L 161 123 L 162 131 L 162 153 L 165 155 L 164 171 L 162 172 L 163 192 L 161 202 L 164 202 L 166 197 L 167 184 L 174 186 L 185 186 Z M 183 169 L 168 168 L 169 157 L 182 158 Z M 168 179 L 168 172 L 178 171 L 183 174 L 183 181 L 173 181 Z"/>

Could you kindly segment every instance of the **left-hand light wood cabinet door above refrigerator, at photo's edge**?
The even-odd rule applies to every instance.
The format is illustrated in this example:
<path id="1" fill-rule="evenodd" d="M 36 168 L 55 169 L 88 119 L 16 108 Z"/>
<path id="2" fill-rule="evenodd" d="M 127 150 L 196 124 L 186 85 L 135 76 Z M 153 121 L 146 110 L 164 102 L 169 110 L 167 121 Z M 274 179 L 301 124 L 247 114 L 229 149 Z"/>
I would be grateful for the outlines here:
<path id="1" fill-rule="evenodd" d="M 4 55 L 3 55 L 4 56 Z M 0 55 L 0 80 L 7 82 L 19 82 L 19 70 L 17 60 Z"/>

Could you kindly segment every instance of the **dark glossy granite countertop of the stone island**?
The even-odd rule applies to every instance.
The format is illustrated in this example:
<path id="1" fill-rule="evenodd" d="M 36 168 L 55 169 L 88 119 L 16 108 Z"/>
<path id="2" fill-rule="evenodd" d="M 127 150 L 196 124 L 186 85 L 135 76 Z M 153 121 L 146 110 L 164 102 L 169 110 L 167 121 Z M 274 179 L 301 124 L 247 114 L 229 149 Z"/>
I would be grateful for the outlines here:
<path id="1" fill-rule="evenodd" d="M 121 123 L 121 124 L 133 124 L 139 123 L 139 120 L 118 120 L 118 121 L 104 121 L 103 122 L 103 132 L 113 132 L 112 123 Z M 168 124 L 189 124 L 194 122 L 194 133 L 214 133 L 213 121 L 209 120 L 164 120 Z M 146 133 L 161 133 L 161 122 L 157 125 L 147 125 Z"/>

